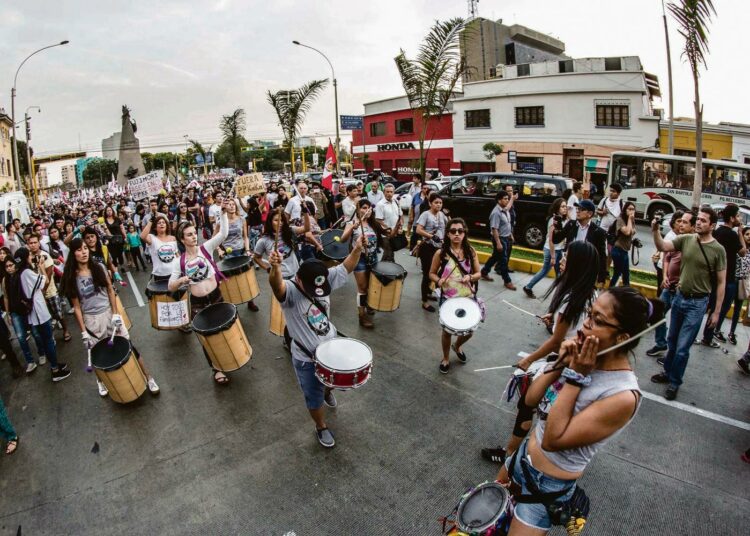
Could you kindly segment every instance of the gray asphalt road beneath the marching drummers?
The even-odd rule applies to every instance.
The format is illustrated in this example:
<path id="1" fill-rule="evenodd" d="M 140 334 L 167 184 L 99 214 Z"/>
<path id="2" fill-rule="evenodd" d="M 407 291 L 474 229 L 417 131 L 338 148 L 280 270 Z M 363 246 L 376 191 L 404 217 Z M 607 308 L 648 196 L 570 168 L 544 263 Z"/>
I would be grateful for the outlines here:
<path id="1" fill-rule="evenodd" d="M 264 278 L 261 312 L 240 309 L 253 359 L 227 387 L 212 382 L 194 334 L 150 327 L 132 287 L 122 300 L 158 397 L 101 399 L 78 334 L 59 344 L 73 369 L 62 383 L 48 370 L 12 381 L 0 366 L 0 394 L 21 437 L 14 456 L 0 455 L 0 535 L 440 534 L 438 517 L 462 492 L 494 478 L 479 449 L 512 429 L 513 409 L 500 402 L 510 369 L 477 370 L 507 367 L 545 337 L 502 300 L 537 313 L 545 304 L 483 283 L 488 317 L 465 346 L 469 362 L 454 359 L 441 375 L 438 318 L 419 308 L 414 259 L 399 260 L 410 272 L 401 308 L 377 314 L 374 330 L 357 325 L 353 278 L 333 297 L 333 320 L 371 346 L 374 371 L 361 389 L 338 394 L 332 450 L 318 445 L 290 358 L 267 331 Z M 146 276 L 135 276 L 142 292 Z M 514 275 L 517 284 L 529 277 Z M 585 534 L 747 533 L 741 329 L 728 354 L 693 348 L 678 404 L 648 381 L 658 371 L 644 353 L 652 340 L 636 349 L 647 398 L 581 479 L 592 499 Z"/>

